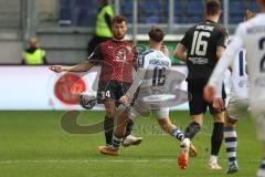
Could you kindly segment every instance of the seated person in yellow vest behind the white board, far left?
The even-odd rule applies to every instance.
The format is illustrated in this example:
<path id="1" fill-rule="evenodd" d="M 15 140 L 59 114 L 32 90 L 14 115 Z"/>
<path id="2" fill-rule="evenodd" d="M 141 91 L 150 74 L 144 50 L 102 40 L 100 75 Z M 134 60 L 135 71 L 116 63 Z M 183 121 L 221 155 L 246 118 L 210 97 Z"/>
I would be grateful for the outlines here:
<path id="1" fill-rule="evenodd" d="M 29 48 L 22 53 L 22 64 L 47 64 L 46 53 L 40 48 L 40 41 L 36 38 L 32 38 L 29 40 Z"/>

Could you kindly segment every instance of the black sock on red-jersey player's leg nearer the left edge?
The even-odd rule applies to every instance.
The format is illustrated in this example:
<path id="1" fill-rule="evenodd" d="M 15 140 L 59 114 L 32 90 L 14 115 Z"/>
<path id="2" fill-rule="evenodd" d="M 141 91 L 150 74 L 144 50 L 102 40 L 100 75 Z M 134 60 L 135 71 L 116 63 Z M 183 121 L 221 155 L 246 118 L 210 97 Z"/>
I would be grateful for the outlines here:
<path id="1" fill-rule="evenodd" d="M 114 118 L 113 117 L 105 116 L 104 131 L 105 131 L 106 145 L 112 145 L 113 133 L 114 133 Z"/>

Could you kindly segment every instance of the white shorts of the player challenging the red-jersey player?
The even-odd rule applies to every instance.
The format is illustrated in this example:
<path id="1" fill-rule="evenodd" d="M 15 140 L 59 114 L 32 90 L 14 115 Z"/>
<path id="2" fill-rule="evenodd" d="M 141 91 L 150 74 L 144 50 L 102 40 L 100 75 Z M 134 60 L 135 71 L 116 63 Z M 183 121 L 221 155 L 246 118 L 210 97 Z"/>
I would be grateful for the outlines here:
<path id="1" fill-rule="evenodd" d="M 163 119 L 169 117 L 168 107 L 153 107 L 147 105 L 140 100 L 136 100 L 134 107 L 131 108 L 130 118 L 134 119 L 138 116 L 148 117 L 152 114 L 158 119 Z"/>

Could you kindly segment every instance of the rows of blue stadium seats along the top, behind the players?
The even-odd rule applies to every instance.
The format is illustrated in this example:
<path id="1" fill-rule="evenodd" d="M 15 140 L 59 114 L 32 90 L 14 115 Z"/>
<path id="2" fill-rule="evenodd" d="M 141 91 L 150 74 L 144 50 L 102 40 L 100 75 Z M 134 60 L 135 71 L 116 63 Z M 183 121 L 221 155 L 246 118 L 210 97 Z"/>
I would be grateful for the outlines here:
<path id="1" fill-rule="evenodd" d="M 257 11 L 254 0 L 231 0 L 230 22 L 242 21 L 245 9 Z M 93 27 L 97 12 L 96 0 L 60 0 L 60 20 L 70 20 L 72 25 Z M 169 0 L 138 1 L 139 23 L 168 23 Z M 120 0 L 120 13 L 132 22 L 132 0 Z M 203 0 L 174 0 L 174 22 L 195 23 L 202 20 Z"/>

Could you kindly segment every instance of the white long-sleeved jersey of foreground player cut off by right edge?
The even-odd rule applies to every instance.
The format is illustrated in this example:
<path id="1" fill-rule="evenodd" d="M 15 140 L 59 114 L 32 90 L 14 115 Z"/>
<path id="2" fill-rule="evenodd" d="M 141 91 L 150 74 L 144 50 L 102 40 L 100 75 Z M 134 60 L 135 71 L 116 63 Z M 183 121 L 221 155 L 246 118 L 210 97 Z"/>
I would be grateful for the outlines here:
<path id="1" fill-rule="evenodd" d="M 209 84 L 215 87 L 219 85 L 223 73 L 236 59 L 242 48 L 246 49 L 250 98 L 265 100 L 265 13 L 258 13 L 255 18 L 239 25 L 233 41 L 214 69 Z"/>

